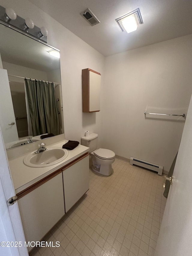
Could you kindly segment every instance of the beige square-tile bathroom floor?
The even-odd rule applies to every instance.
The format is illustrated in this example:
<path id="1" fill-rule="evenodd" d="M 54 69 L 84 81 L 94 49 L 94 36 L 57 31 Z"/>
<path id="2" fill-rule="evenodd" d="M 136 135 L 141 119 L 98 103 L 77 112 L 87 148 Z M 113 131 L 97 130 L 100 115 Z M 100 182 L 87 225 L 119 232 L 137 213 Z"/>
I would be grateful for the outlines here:
<path id="1" fill-rule="evenodd" d="M 163 177 L 116 159 L 113 174 L 90 175 L 90 189 L 43 239 L 60 247 L 31 256 L 152 256 L 166 198 Z"/>

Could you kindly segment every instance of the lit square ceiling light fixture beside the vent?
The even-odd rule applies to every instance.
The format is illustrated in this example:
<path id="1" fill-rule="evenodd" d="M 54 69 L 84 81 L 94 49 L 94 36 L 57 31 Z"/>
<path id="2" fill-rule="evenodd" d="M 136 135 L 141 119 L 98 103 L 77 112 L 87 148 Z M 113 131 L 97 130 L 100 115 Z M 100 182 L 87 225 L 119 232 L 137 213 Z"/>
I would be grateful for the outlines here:
<path id="1" fill-rule="evenodd" d="M 126 31 L 127 33 L 137 30 L 137 26 L 143 24 L 140 9 L 138 8 L 128 14 L 125 14 L 124 16 L 116 19 L 116 22 L 119 24 L 122 31 Z"/>

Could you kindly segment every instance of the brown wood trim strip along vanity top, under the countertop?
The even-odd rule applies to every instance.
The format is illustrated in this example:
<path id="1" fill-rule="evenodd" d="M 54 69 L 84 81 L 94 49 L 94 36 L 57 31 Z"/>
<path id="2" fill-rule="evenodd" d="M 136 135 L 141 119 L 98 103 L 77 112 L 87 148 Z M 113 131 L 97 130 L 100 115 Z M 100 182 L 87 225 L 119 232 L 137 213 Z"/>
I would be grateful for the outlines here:
<path id="1" fill-rule="evenodd" d="M 39 186 L 43 185 L 49 179 L 52 179 L 53 177 L 55 177 L 56 175 L 61 173 L 63 170 L 66 170 L 67 168 L 69 168 L 73 164 L 76 164 L 77 162 L 81 161 L 83 158 L 85 158 L 88 155 L 89 155 L 89 152 L 85 153 L 84 155 L 80 156 L 79 158 L 76 158 L 75 160 L 73 160 L 69 164 L 65 165 L 64 167 L 59 168 L 58 170 L 56 170 L 53 173 L 51 173 L 48 176 L 46 176 L 45 178 L 39 180 L 38 182 L 34 183 L 33 185 L 29 186 L 28 188 L 20 191 L 19 193 L 16 194 L 16 196 L 18 197 L 18 199 L 24 197 L 26 194 L 29 194 L 31 191 L 33 191 L 34 189 L 36 189 Z"/>

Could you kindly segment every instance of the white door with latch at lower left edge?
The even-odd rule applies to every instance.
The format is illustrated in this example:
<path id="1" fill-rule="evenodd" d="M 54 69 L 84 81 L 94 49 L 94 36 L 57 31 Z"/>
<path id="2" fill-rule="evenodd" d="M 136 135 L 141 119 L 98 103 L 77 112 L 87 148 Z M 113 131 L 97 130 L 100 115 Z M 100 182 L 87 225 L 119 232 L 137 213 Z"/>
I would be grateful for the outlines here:
<path id="1" fill-rule="evenodd" d="M 7 205 L 7 200 L 15 195 L 11 180 L 7 155 L 4 148 L 1 128 L 0 128 L 0 242 L 21 242 L 21 247 L 4 247 L 0 245 L 0 255 L 6 256 L 26 256 L 29 255 L 24 246 L 24 233 L 19 215 L 18 204 Z M 20 246 L 14 243 L 15 246 Z"/>

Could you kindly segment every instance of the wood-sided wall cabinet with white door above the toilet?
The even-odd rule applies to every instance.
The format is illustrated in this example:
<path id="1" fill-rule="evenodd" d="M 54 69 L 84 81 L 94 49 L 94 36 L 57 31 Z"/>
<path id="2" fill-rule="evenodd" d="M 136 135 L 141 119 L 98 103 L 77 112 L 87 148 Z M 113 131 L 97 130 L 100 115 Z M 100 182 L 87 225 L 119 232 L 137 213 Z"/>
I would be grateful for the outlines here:
<path id="1" fill-rule="evenodd" d="M 90 69 L 82 69 L 83 112 L 100 111 L 101 74 Z"/>

